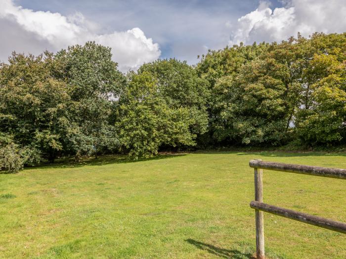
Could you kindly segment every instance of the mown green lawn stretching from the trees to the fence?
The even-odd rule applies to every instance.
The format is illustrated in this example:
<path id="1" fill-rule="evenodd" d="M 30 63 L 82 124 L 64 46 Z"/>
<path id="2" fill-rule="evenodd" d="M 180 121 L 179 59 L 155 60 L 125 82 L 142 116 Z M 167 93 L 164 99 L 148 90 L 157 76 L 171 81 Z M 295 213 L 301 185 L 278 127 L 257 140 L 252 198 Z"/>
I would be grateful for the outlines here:
<path id="1" fill-rule="evenodd" d="M 0 175 L 0 258 L 251 258 L 253 158 L 346 168 L 345 153 L 122 156 Z M 264 171 L 264 202 L 346 222 L 338 179 Z M 346 235 L 264 215 L 268 258 L 346 258 Z"/>

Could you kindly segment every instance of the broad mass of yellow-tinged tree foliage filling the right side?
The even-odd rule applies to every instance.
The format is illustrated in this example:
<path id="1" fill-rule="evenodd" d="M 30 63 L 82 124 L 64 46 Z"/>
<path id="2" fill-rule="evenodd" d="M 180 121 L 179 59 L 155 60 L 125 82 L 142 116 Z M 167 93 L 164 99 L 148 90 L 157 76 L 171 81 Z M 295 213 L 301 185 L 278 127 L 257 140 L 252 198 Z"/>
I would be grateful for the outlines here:
<path id="1" fill-rule="evenodd" d="M 197 66 L 212 90 L 209 136 L 223 145 L 343 143 L 345 53 L 345 33 L 209 52 Z"/>

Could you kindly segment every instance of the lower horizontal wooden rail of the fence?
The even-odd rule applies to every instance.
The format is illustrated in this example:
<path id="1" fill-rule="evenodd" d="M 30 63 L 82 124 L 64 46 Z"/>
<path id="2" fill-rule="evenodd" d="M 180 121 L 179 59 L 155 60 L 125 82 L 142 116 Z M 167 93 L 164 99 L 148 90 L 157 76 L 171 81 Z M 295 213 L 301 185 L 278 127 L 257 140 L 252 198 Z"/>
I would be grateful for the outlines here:
<path id="1" fill-rule="evenodd" d="M 258 202 L 258 201 L 252 201 L 250 203 L 250 207 L 256 210 L 268 212 L 268 213 L 285 217 L 291 220 L 308 223 L 310 225 L 319 226 L 319 227 L 327 228 L 330 230 L 334 230 L 334 231 L 346 234 L 346 224 L 343 222 L 331 221 L 321 217 L 276 207 L 276 206 L 269 205 L 263 202 Z"/>

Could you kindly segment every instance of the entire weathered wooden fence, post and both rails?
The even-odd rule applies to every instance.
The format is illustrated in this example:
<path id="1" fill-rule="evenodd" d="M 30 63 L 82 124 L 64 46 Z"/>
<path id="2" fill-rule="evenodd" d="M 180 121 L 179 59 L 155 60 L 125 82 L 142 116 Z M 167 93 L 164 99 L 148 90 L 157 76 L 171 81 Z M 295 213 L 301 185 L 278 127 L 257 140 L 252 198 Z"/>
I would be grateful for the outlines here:
<path id="1" fill-rule="evenodd" d="M 264 228 L 263 212 L 275 214 L 288 219 L 308 223 L 318 227 L 327 228 L 346 234 L 346 223 L 332 221 L 321 217 L 280 208 L 263 203 L 263 169 L 288 173 L 329 177 L 346 180 L 346 169 L 328 168 L 319 166 L 307 166 L 296 164 L 284 164 L 275 162 L 265 162 L 261 159 L 250 160 L 250 167 L 255 169 L 255 201 L 250 203 L 250 207 L 255 209 L 256 215 L 256 256 L 257 259 L 264 259 Z"/>

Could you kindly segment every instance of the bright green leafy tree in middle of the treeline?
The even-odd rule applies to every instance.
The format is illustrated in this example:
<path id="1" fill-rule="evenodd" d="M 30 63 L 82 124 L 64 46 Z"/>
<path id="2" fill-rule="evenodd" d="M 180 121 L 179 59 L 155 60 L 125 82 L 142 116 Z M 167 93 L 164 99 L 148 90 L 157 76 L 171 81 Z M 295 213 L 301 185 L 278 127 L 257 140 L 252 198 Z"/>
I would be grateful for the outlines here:
<path id="1" fill-rule="evenodd" d="M 157 154 L 162 145 L 195 145 L 196 119 L 186 107 L 170 107 L 159 89 L 151 73 L 132 74 L 120 99 L 116 127 L 123 149 L 135 159 Z"/>

